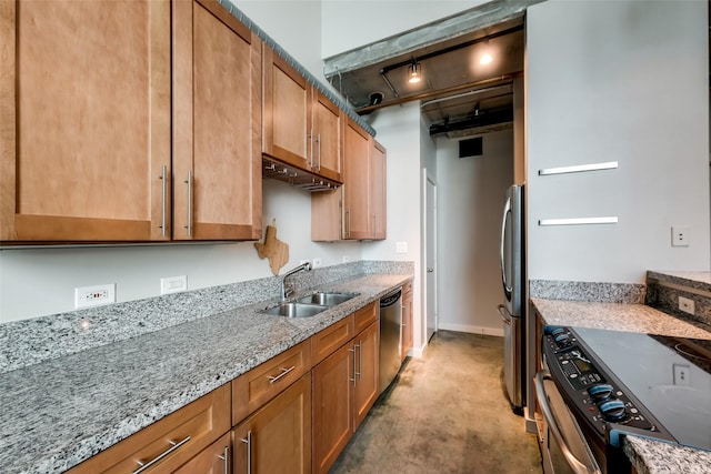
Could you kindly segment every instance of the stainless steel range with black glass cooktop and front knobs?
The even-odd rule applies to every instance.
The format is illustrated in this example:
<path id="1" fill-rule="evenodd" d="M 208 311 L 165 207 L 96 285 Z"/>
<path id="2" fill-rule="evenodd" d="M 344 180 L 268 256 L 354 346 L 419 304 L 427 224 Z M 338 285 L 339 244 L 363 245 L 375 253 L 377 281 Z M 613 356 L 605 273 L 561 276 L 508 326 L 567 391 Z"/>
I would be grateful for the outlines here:
<path id="1" fill-rule="evenodd" d="M 711 451 L 711 341 L 547 326 L 541 350 L 547 472 L 629 472 L 623 434 Z"/>

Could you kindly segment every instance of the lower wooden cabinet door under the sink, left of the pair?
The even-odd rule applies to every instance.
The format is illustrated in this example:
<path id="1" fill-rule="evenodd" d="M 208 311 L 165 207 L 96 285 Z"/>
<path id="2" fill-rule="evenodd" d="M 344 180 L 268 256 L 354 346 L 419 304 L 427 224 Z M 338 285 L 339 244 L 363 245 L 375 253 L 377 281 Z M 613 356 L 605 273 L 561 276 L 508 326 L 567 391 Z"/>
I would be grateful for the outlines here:
<path id="1" fill-rule="evenodd" d="M 352 342 L 343 345 L 313 371 L 313 472 L 326 473 L 353 434 Z"/>

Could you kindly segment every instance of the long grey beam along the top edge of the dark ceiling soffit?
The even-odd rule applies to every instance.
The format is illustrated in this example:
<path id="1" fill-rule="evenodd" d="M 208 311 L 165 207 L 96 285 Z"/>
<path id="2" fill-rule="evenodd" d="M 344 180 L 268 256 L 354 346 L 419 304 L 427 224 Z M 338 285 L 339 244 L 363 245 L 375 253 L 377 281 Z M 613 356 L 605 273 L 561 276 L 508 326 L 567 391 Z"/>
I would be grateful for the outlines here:
<path id="1" fill-rule="evenodd" d="M 525 9 L 542 1 L 544 0 L 492 0 L 423 27 L 326 58 L 323 74 L 330 81 L 339 73 L 378 64 L 444 40 L 451 40 L 514 19 L 522 21 Z"/>

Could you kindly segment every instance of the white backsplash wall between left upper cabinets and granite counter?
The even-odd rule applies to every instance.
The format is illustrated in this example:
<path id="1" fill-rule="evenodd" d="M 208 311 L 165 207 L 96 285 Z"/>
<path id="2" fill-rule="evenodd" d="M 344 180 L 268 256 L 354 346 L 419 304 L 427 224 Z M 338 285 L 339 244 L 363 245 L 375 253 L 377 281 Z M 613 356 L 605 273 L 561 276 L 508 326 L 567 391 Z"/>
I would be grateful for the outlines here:
<path id="1" fill-rule="evenodd" d="M 321 258 L 323 265 L 361 260 L 360 243 L 311 242 L 310 194 L 263 181 L 263 224 L 276 219 L 277 238 L 289 244 L 289 262 Z M 271 276 L 253 242 L 110 248 L 38 248 L 0 251 L 0 323 L 72 311 L 73 289 L 117 283 L 117 301 L 160 294 L 160 279 L 188 275 L 188 289 Z"/>

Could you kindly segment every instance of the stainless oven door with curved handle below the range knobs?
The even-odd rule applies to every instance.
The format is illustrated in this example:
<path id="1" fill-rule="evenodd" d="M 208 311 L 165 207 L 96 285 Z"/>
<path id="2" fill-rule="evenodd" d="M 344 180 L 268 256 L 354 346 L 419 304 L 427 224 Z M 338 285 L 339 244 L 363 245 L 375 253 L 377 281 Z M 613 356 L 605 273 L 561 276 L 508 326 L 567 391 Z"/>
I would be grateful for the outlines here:
<path id="1" fill-rule="evenodd" d="M 599 474 L 598 462 L 580 426 L 547 370 L 535 374 L 540 409 L 539 442 L 545 474 Z"/>

